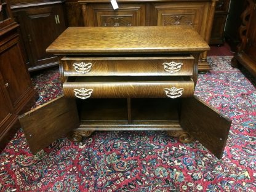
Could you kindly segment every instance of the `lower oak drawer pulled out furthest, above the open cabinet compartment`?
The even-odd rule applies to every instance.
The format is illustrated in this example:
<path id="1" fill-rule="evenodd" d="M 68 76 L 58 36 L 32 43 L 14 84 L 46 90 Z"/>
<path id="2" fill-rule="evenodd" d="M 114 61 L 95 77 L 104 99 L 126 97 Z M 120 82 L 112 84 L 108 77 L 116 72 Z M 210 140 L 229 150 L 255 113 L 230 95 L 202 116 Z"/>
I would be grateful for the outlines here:
<path id="1" fill-rule="evenodd" d="M 70 98 L 177 98 L 191 97 L 194 82 L 190 77 L 108 76 L 69 77 L 63 83 Z"/>

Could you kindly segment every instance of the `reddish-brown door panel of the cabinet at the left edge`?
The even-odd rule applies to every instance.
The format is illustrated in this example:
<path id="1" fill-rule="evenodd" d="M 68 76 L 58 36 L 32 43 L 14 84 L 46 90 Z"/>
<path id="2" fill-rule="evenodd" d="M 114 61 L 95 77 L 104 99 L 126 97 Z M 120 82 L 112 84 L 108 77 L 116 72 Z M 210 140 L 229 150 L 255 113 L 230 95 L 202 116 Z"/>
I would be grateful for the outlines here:
<path id="1" fill-rule="evenodd" d="M 12 105 L 17 108 L 31 86 L 18 37 L 7 42 L 6 46 L 1 47 L 0 52 L 0 71 L 3 81 Z"/>

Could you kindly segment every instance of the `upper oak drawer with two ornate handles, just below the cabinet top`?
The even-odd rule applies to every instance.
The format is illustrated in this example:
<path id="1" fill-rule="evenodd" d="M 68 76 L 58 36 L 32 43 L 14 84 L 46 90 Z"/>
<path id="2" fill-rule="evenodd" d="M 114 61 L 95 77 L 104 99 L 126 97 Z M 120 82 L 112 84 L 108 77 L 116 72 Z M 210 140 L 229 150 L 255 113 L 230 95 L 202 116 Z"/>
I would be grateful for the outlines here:
<path id="1" fill-rule="evenodd" d="M 62 58 L 64 76 L 191 76 L 194 57 Z"/>

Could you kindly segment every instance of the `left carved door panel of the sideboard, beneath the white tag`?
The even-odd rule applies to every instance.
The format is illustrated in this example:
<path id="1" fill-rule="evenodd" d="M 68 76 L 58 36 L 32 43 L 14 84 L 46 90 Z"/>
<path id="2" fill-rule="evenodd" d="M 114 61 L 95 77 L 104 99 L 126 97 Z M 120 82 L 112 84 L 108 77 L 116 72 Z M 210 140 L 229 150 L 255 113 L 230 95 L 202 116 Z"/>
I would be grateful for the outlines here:
<path id="1" fill-rule="evenodd" d="M 143 26 L 145 25 L 144 4 L 119 4 L 113 10 L 111 4 L 90 4 L 88 26 Z"/>

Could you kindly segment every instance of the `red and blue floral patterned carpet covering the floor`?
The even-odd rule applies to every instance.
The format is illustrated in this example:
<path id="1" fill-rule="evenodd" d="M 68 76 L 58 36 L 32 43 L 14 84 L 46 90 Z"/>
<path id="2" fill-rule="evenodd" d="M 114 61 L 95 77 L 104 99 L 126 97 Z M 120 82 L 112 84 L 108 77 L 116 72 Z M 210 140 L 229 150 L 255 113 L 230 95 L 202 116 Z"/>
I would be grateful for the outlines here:
<path id="1" fill-rule="evenodd" d="M 19 130 L 0 155 L 0 191 L 256 191 L 256 89 L 231 57 L 209 57 L 195 95 L 232 119 L 222 160 L 166 132 L 60 138 L 32 155 Z M 62 95 L 58 68 L 33 75 L 43 100 Z M 36 106 L 37 106 L 36 105 Z"/>

